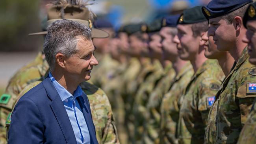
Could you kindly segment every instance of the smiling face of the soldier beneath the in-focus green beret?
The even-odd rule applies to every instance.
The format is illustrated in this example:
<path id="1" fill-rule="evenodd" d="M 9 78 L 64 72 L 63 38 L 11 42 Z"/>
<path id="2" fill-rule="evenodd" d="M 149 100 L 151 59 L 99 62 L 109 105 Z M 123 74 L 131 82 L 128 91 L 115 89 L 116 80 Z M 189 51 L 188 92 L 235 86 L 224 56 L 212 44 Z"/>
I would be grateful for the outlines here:
<path id="1" fill-rule="evenodd" d="M 177 44 L 178 55 L 182 60 L 193 60 L 199 53 L 201 37 L 193 36 L 192 25 L 186 24 L 177 26 L 178 33 L 174 37 L 174 42 Z"/>

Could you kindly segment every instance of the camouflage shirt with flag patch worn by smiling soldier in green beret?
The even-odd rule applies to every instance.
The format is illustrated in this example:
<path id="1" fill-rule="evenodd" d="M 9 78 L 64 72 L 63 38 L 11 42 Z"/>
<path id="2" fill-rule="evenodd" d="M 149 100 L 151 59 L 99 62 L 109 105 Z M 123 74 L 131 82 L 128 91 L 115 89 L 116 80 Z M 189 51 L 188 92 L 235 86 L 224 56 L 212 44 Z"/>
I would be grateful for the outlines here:
<path id="1" fill-rule="evenodd" d="M 179 143 L 204 142 L 208 112 L 215 94 L 224 79 L 217 60 L 206 60 L 191 78 L 181 98 L 178 139 Z"/>

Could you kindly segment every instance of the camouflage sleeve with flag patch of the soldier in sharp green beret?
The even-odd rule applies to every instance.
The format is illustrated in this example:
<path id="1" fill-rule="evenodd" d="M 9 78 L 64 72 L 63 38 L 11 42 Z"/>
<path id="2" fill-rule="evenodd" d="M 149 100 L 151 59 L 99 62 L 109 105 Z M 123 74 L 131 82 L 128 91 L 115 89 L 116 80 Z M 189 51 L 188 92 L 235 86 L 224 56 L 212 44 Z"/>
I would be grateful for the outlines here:
<path id="1" fill-rule="evenodd" d="M 205 78 L 199 88 L 198 111 L 201 113 L 204 125 L 207 125 L 208 113 L 215 100 L 215 95 L 221 86 L 221 81 L 213 78 Z"/>

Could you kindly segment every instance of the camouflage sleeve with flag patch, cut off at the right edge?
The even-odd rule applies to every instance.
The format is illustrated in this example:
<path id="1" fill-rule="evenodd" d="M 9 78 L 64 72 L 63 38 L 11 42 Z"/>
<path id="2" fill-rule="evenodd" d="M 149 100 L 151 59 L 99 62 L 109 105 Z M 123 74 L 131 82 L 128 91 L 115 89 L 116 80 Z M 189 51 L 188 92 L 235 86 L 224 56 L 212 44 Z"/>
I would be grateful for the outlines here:
<path id="1" fill-rule="evenodd" d="M 256 80 L 244 82 L 237 90 L 236 101 L 240 108 L 241 123 L 244 125 L 250 113 L 252 103 L 256 97 L 256 90 L 250 88 L 255 85 Z"/>

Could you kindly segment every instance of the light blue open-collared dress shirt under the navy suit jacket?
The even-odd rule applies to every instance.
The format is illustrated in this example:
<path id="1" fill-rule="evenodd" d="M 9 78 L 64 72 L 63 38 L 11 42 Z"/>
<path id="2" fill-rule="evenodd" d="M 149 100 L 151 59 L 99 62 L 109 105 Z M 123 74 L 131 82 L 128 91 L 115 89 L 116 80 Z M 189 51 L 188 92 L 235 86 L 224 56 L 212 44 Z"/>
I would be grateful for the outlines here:
<path id="1" fill-rule="evenodd" d="M 51 72 L 49 77 L 52 84 L 56 88 L 63 105 L 69 116 L 70 123 L 72 125 L 77 144 L 90 144 L 89 130 L 83 116 L 82 109 L 77 101 L 79 96 L 82 96 L 82 89 L 80 86 L 74 91 L 74 95 L 70 94 L 64 87 L 62 87 L 56 79 L 52 76 Z M 71 130 L 71 129 L 70 129 Z"/>

